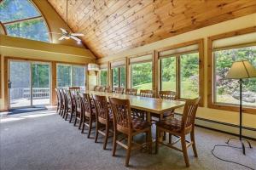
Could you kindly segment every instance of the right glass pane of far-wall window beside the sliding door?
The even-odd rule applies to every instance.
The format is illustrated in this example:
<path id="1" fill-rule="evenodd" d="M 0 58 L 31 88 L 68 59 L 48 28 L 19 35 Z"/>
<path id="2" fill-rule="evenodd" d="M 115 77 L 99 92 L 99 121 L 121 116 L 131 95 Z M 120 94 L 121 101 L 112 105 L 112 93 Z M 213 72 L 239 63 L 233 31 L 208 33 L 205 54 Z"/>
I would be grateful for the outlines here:
<path id="1" fill-rule="evenodd" d="M 83 66 L 72 66 L 72 86 L 85 89 L 85 71 Z"/>

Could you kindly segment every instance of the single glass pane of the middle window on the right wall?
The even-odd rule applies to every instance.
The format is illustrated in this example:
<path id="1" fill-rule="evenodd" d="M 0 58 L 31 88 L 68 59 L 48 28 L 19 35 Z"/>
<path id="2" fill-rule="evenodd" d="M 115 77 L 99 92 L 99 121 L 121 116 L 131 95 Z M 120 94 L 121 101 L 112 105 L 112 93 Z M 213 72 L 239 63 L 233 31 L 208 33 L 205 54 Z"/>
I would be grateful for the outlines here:
<path id="1" fill-rule="evenodd" d="M 131 88 L 152 89 L 152 62 L 131 65 Z"/>

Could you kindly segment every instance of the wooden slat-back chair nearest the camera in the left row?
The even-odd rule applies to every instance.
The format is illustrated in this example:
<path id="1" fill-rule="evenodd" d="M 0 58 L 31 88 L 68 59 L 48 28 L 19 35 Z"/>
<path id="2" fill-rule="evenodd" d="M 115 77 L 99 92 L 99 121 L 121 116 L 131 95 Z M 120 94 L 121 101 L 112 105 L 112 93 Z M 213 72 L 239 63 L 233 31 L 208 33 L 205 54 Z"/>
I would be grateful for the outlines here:
<path id="1" fill-rule="evenodd" d="M 115 156 L 117 144 L 124 147 L 126 151 L 125 166 L 128 167 L 132 145 L 136 144 L 132 141 L 133 136 L 139 133 L 146 133 L 148 150 L 151 152 L 151 124 L 141 119 L 131 119 L 131 106 L 129 99 L 109 98 L 109 103 L 113 111 L 113 156 Z M 123 139 L 118 139 L 118 133 L 127 136 L 127 143 L 123 143 Z M 138 146 L 138 145 L 137 145 Z M 141 145 L 139 145 L 141 147 Z M 136 147 L 138 148 L 138 147 Z"/>

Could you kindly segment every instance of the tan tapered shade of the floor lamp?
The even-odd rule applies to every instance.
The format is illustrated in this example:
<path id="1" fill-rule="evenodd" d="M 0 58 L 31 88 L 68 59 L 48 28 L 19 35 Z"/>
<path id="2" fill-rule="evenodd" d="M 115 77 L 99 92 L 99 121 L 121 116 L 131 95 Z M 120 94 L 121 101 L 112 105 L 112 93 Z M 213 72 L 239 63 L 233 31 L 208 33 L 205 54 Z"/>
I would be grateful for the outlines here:
<path id="1" fill-rule="evenodd" d="M 232 64 L 226 78 L 241 79 L 256 77 L 256 69 L 248 60 L 236 61 Z"/>

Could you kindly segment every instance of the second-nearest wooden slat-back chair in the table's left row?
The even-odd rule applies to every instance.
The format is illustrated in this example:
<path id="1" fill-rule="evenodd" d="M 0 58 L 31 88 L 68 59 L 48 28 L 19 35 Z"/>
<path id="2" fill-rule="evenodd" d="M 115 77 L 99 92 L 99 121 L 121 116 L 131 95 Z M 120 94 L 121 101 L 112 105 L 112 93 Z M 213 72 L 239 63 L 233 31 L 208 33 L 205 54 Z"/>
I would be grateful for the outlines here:
<path id="1" fill-rule="evenodd" d="M 108 105 L 106 96 L 93 95 L 93 100 L 96 106 L 95 143 L 97 142 L 98 134 L 99 133 L 102 134 L 105 137 L 103 150 L 106 150 L 106 146 L 108 144 L 109 132 L 111 129 L 113 129 L 113 114 L 110 109 L 110 105 Z"/>

